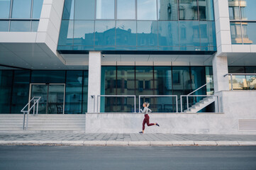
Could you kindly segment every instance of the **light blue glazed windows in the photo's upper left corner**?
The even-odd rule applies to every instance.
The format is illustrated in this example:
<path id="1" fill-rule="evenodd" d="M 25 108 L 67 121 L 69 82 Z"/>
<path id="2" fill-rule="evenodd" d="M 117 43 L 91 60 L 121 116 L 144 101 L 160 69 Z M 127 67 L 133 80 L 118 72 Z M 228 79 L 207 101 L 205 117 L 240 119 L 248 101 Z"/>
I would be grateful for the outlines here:
<path id="1" fill-rule="evenodd" d="M 0 32 L 37 32 L 43 0 L 1 0 Z"/>

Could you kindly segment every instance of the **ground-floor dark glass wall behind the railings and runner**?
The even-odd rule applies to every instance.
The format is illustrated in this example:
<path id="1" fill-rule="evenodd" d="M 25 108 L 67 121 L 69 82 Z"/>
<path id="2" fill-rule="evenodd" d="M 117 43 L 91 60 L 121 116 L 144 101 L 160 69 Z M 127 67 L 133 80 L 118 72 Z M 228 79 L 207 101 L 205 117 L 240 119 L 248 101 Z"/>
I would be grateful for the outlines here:
<path id="1" fill-rule="evenodd" d="M 213 79 L 212 67 L 162 66 L 103 66 L 101 68 L 101 95 L 135 95 L 136 108 L 140 95 L 189 94 Z M 213 94 L 213 84 L 196 91 L 195 95 Z M 156 113 L 176 112 L 176 98 L 145 96 Z M 200 98 L 189 98 L 192 105 Z M 180 107 L 178 107 L 180 108 Z M 134 112 L 133 97 L 102 97 L 101 112 Z M 138 112 L 138 111 L 137 111 Z"/>

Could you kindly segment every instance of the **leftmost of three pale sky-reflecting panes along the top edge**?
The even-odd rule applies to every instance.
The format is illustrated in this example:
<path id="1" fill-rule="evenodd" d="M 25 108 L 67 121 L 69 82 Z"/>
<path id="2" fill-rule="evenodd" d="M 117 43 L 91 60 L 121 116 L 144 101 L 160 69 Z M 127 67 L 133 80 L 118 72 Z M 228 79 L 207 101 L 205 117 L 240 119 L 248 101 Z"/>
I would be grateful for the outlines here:
<path id="1" fill-rule="evenodd" d="M 115 0 L 96 0 L 96 18 L 113 19 L 115 17 Z"/>

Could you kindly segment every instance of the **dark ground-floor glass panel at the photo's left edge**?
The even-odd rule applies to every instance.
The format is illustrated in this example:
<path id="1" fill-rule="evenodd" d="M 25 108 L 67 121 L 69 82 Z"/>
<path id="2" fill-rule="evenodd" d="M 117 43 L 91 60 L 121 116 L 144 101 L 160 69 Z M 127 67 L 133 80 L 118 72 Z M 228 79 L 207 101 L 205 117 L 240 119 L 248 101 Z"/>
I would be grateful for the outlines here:
<path id="1" fill-rule="evenodd" d="M 0 71 L 0 113 L 10 113 L 12 71 Z"/>

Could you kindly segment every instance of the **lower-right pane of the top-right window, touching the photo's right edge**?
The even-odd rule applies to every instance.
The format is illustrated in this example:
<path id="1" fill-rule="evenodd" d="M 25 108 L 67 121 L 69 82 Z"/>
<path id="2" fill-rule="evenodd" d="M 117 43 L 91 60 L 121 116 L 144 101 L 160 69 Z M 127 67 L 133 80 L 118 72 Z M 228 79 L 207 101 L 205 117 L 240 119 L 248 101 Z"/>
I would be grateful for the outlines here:
<path id="1" fill-rule="evenodd" d="M 256 44 L 256 23 L 242 23 L 243 43 Z"/>

